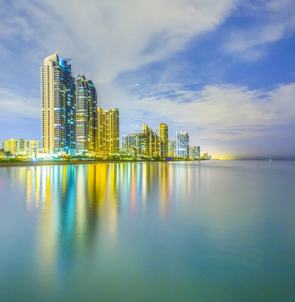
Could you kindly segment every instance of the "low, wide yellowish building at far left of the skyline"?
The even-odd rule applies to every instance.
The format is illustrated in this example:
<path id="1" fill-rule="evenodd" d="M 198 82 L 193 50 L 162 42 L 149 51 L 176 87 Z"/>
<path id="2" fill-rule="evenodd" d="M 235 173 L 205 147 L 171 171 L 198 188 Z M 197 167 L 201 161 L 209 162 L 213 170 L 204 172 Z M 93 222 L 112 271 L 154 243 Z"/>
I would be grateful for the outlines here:
<path id="1" fill-rule="evenodd" d="M 24 140 L 22 138 L 3 140 L 3 148 L 13 155 L 32 155 L 40 147 L 39 140 Z"/>

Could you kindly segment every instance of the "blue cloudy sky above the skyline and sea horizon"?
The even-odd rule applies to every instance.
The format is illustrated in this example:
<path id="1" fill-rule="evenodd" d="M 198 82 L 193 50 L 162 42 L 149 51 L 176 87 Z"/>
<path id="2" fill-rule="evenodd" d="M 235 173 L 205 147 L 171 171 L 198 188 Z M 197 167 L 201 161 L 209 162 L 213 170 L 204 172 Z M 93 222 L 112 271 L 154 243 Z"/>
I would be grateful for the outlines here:
<path id="1" fill-rule="evenodd" d="M 40 139 L 52 53 L 120 111 L 201 154 L 295 159 L 295 0 L 0 0 L 0 140 Z"/>

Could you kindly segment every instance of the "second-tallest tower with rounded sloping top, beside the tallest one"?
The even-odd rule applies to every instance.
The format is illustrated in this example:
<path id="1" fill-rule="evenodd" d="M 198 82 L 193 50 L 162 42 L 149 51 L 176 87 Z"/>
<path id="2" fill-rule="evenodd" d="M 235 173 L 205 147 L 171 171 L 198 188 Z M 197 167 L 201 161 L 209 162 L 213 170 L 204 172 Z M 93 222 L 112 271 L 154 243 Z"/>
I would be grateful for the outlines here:
<path id="1" fill-rule="evenodd" d="M 79 153 L 94 153 L 96 149 L 97 94 L 92 81 L 84 75 L 76 79 L 76 149 Z"/>

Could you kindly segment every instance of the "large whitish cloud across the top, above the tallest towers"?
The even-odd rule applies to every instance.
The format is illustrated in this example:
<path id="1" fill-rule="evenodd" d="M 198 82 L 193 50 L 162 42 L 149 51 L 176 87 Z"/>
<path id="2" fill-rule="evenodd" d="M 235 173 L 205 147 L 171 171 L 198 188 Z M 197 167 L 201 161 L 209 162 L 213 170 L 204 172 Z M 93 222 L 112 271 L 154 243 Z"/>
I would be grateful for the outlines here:
<path id="1" fill-rule="evenodd" d="M 32 43 L 30 50 L 42 49 L 40 56 L 58 50 L 75 59 L 74 72 L 108 80 L 184 49 L 193 37 L 218 27 L 236 2 L 17 0 L 6 8 L 0 34 Z"/>

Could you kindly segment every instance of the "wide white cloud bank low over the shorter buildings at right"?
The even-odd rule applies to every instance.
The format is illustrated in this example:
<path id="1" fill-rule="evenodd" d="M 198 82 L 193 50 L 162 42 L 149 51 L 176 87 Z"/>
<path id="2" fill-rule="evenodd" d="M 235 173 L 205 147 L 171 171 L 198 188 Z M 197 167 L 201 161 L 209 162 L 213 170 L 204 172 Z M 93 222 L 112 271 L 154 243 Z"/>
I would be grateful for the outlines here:
<path id="1" fill-rule="evenodd" d="M 269 90 L 236 85 L 208 85 L 187 90 L 179 84 L 156 85 L 121 106 L 130 116 L 146 113 L 171 128 L 186 129 L 198 138 L 232 140 L 265 134 L 269 127 L 293 124 L 295 83 Z M 120 104 L 119 104 L 120 105 Z"/>

